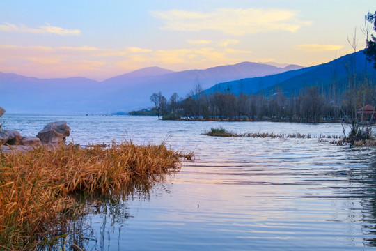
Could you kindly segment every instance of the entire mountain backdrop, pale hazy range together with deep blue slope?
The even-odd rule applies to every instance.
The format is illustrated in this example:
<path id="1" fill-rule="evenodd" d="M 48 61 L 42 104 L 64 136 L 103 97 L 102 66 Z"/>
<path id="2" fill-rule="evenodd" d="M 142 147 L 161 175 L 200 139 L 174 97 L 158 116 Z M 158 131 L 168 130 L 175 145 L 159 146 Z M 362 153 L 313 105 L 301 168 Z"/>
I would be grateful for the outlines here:
<path id="1" fill-rule="evenodd" d="M 320 86 L 321 91 L 339 96 L 351 75 L 376 83 L 376 70 L 363 51 L 318 66 L 277 66 L 281 65 L 243 62 L 180 72 L 149 67 L 102 82 L 85 77 L 38 79 L 0 72 L 0 106 L 8 113 L 107 114 L 151 107 L 150 96 L 159 91 L 166 98 L 174 92 L 185 98 L 197 82 L 207 88 L 205 94 L 219 91 L 265 96 L 276 90 L 290 96 L 309 86 Z"/>

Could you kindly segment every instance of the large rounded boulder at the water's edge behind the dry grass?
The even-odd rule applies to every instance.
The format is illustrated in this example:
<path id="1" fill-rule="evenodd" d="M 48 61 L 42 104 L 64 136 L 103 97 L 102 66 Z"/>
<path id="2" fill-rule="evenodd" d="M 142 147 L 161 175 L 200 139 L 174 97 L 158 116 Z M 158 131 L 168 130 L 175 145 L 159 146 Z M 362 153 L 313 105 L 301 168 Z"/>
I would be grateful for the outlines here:
<path id="1" fill-rule="evenodd" d="M 65 121 L 56 121 L 49 123 L 38 132 L 38 137 L 42 144 L 65 143 L 65 137 L 70 135 L 70 127 Z"/>

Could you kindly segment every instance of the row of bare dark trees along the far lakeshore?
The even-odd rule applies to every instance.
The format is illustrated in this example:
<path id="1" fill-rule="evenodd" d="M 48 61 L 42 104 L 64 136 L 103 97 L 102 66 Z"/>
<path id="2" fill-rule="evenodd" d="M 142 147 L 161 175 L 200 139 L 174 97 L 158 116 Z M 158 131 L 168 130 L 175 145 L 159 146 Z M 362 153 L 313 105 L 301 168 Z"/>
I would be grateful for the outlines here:
<path id="1" fill-rule="evenodd" d="M 375 86 L 372 82 L 358 83 L 356 90 L 345 91 L 340 96 L 323 93 L 320 87 L 311 86 L 298 95 L 285 96 L 281 90 L 272 95 L 202 92 L 196 84 L 187 98 L 174 93 L 166 100 L 162 93 L 153 93 L 150 100 L 162 119 L 192 119 L 221 121 L 291 121 L 320 122 L 342 121 L 351 114 L 354 102 L 357 107 L 375 103 Z"/>

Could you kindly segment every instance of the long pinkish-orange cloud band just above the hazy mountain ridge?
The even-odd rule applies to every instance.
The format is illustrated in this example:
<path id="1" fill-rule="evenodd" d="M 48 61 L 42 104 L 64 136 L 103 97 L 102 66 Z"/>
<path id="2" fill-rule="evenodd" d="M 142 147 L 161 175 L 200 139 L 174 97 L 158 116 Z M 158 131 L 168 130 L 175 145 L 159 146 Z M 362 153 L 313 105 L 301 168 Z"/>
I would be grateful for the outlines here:
<path id="1" fill-rule="evenodd" d="M 226 41 L 228 44 L 236 42 L 237 40 Z M 0 69 L 32 77 L 86 76 L 105 79 L 148 66 L 187 70 L 239 63 L 249 61 L 251 53 L 251 51 L 229 47 L 199 46 L 174 50 L 150 50 L 139 47 L 113 50 L 87 45 L 80 47 L 0 45 L 2 59 Z"/>

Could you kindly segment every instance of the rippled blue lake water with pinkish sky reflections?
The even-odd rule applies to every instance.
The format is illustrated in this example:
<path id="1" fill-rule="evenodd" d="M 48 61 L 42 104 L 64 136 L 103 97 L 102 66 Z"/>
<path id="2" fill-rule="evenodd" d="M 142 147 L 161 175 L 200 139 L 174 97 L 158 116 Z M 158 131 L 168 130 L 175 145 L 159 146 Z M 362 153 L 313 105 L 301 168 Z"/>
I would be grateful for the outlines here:
<path id="1" fill-rule="evenodd" d="M 154 116 L 22 116 L 3 128 L 36 135 L 52 121 L 69 142 L 132 140 L 194 151 L 150 190 L 80 218 L 88 250 L 371 250 L 376 246 L 375 148 L 319 142 L 340 124 L 158 121 Z M 212 127 L 311 138 L 209 137 Z M 348 128 L 346 128 L 348 130 Z"/>

